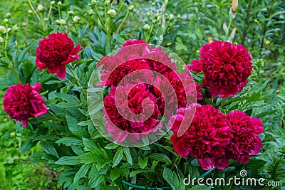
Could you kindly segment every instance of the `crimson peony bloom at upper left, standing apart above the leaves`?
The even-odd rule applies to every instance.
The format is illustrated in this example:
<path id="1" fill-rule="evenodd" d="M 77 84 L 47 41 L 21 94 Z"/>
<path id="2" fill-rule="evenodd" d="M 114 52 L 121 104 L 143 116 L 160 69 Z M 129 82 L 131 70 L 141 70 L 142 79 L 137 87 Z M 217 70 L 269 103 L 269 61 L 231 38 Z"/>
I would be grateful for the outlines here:
<path id="1" fill-rule="evenodd" d="M 58 78 L 66 78 L 66 64 L 78 60 L 81 45 L 74 47 L 71 38 L 66 33 L 51 33 L 48 38 L 43 38 L 36 48 L 36 65 L 38 70 L 48 69 Z"/>

